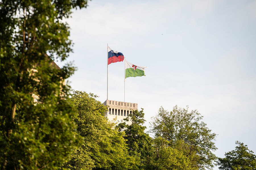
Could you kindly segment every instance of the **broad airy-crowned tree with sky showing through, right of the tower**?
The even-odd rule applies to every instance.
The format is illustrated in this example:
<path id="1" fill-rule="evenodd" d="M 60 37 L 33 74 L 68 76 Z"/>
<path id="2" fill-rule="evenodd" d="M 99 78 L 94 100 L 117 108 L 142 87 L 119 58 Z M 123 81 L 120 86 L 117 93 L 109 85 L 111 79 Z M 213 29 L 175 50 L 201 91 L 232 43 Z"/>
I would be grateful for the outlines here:
<path id="1" fill-rule="evenodd" d="M 171 147 L 182 152 L 193 169 L 210 169 L 216 159 L 212 153 L 217 149 L 213 142 L 216 134 L 211 133 L 202 118 L 196 110 L 189 112 L 188 107 L 181 109 L 176 105 L 171 112 L 161 107 L 152 118 L 150 132 L 156 139 L 161 139 L 163 148 Z M 156 148 L 155 152 L 157 155 L 160 151 Z"/>

